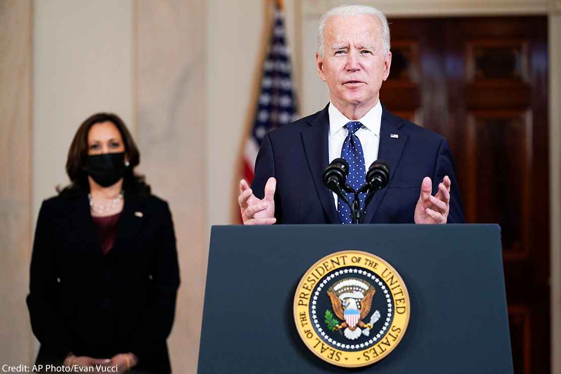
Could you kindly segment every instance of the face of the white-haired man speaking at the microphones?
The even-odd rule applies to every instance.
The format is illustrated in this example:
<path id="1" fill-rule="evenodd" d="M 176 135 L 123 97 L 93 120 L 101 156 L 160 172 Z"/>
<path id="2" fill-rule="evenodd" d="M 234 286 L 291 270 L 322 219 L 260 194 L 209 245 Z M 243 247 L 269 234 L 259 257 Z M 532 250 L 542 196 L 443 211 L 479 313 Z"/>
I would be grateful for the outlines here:
<path id="1" fill-rule="evenodd" d="M 375 17 L 333 16 L 324 28 L 324 56 L 316 54 L 316 62 L 335 107 L 372 108 L 388 78 L 392 53 L 383 50 Z"/>

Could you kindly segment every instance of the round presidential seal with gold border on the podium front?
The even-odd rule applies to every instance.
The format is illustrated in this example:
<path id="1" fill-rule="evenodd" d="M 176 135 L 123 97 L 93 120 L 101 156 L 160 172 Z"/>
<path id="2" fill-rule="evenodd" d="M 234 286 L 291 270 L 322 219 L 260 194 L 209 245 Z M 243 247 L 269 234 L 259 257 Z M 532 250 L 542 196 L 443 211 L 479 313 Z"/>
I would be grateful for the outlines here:
<path id="1" fill-rule="evenodd" d="M 386 357 L 403 338 L 409 315 L 409 294 L 396 269 L 361 251 L 321 258 L 294 297 L 298 334 L 315 355 L 337 366 Z"/>

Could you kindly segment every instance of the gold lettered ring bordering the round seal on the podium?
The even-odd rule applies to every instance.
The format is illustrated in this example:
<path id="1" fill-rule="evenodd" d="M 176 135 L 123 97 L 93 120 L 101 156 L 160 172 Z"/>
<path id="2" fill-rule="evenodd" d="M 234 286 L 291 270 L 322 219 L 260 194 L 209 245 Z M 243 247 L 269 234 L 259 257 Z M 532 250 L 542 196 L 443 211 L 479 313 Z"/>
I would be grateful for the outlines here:
<path id="1" fill-rule="evenodd" d="M 404 294 L 404 299 L 405 299 L 405 304 L 404 306 L 407 307 L 406 310 L 406 315 L 403 317 L 404 322 L 402 325 L 398 326 L 401 327 L 402 331 L 399 333 L 399 336 L 397 337 L 396 340 L 393 341 L 393 345 L 389 348 L 387 348 L 387 350 L 385 350 L 385 352 L 383 352 L 383 354 L 380 354 L 376 357 L 371 358 L 369 361 L 362 361 L 359 363 L 346 363 L 346 362 L 337 362 L 334 361 L 333 359 L 329 359 L 328 357 L 324 357 L 323 355 L 321 355 L 321 353 L 317 352 L 316 349 L 314 349 L 314 347 L 312 347 L 309 342 L 308 342 L 308 338 L 306 338 L 305 336 L 305 331 L 304 331 L 304 327 L 300 326 L 299 322 L 300 322 L 300 315 L 298 315 L 298 293 L 301 291 L 302 289 L 302 285 L 305 283 L 305 280 L 307 279 L 308 276 L 311 275 L 312 271 L 316 269 L 316 267 L 318 267 L 319 265 L 323 265 L 323 262 L 330 260 L 331 258 L 335 257 L 337 258 L 338 256 L 341 255 L 362 255 L 362 256 L 367 256 L 367 257 L 371 257 L 374 260 L 380 262 L 381 264 L 383 264 L 384 266 L 387 267 L 387 269 L 389 269 L 390 271 L 392 271 L 392 274 L 397 278 L 399 285 L 401 286 L 401 289 L 403 291 Z M 376 275 L 378 275 L 380 277 L 380 279 L 384 280 L 380 274 L 376 273 L 376 271 L 374 271 L 374 269 L 372 269 L 371 267 L 368 267 L 366 265 L 362 265 L 362 264 L 347 264 L 341 267 L 348 267 L 348 266 L 355 266 L 355 267 L 360 267 L 361 269 L 366 269 L 371 271 L 372 273 L 375 273 Z M 318 281 L 316 281 L 316 283 L 314 284 L 314 287 L 312 288 L 312 290 L 315 290 L 317 285 L 325 278 L 325 276 L 328 276 L 329 274 L 332 274 L 332 271 L 328 271 L 327 273 L 323 274 L 321 276 L 321 278 L 318 279 Z M 384 280 L 384 282 L 387 284 L 387 282 Z M 388 288 L 388 292 L 391 294 L 391 298 L 392 298 L 392 306 L 393 306 L 393 312 L 392 315 L 395 316 L 396 315 L 396 302 L 395 302 L 395 298 L 393 297 L 393 293 L 391 292 L 391 290 Z M 313 298 L 313 292 L 310 292 L 310 302 Z M 365 252 L 365 251 L 358 251 L 358 250 L 344 250 L 344 251 L 338 251 L 338 252 L 333 252 L 330 255 L 324 256 L 323 258 L 320 258 L 320 260 L 316 261 L 312 266 L 309 267 L 309 269 L 306 270 L 306 272 L 304 273 L 304 275 L 302 275 L 302 278 L 300 279 L 300 282 L 298 282 L 298 286 L 296 287 L 296 292 L 294 295 L 294 302 L 293 302 L 293 316 L 294 316 L 294 322 L 296 325 L 296 330 L 298 331 L 298 335 L 300 335 L 300 338 L 302 339 L 302 341 L 304 341 L 304 344 L 306 345 L 306 347 L 312 352 L 314 353 L 316 356 L 318 356 L 319 358 L 323 359 L 323 361 L 328 362 L 330 364 L 333 364 L 335 366 L 339 366 L 339 367 L 362 367 L 362 366 L 368 366 L 370 364 L 373 364 L 375 362 L 380 361 L 381 359 L 387 357 L 388 354 L 390 354 L 401 342 L 401 339 L 403 338 L 403 335 L 405 335 L 406 330 L 407 330 L 407 326 L 409 324 L 409 318 L 410 318 L 410 313 L 411 313 L 411 300 L 409 297 L 409 292 L 407 290 L 407 287 L 405 285 L 405 282 L 403 281 L 403 279 L 401 278 L 401 275 L 399 275 L 399 273 L 396 271 L 396 269 L 390 265 L 387 261 L 385 261 L 383 258 L 374 255 L 373 253 L 370 252 Z M 311 329 L 311 334 L 313 335 L 311 339 L 313 338 L 318 338 L 320 341 L 323 341 L 323 339 L 316 333 L 314 327 L 312 326 L 313 321 L 311 320 L 311 316 L 310 316 L 310 305 L 307 306 L 306 308 L 306 316 L 307 319 L 309 320 L 309 323 L 311 325 L 310 329 Z M 392 324 L 390 324 L 390 329 L 393 325 L 393 320 L 392 320 Z M 330 349 L 333 349 L 335 351 L 339 351 L 342 354 L 352 354 L 352 355 L 360 355 L 360 354 L 364 354 L 365 352 L 369 352 L 370 350 L 373 349 L 373 347 L 375 347 L 375 345 L 379 344 L 380 341 L 382 341 L 384 338 L 386 338 L 388 336 L 388 334 L 390 333 L 390 329 L 388 329 L 388 331 L 381 336 L 381 338 L 378 340 L 378 343 L 375 343 L 373 345 L 371 345 L 370 347 L 368 347 L 367 349 L 364 350 L 357 350 L 357 351 L 353 351 L 353 352 L 348 352 L 348 351 L 344 351 L 344 350 L 339 350 L 338 348 L 334 348 L 332 346 L 329 345 Z M 328 344 L 328 343 L 326 343 Z"/>

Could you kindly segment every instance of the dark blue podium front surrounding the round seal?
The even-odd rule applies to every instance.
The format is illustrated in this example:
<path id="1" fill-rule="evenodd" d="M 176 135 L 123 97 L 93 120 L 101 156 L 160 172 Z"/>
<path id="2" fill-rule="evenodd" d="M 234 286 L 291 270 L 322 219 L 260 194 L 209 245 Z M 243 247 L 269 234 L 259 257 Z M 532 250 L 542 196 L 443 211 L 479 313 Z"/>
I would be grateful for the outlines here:
<path id="1" fill-rule="evenodd" d="M 330 253 L 372 253 L 407 285 L 397 347 L 361 368 L 316 357 L 296 329 L 305 272 Z M 198 372 L 513 372 L 498 225 L 273 225 L 211 229 Z"/>

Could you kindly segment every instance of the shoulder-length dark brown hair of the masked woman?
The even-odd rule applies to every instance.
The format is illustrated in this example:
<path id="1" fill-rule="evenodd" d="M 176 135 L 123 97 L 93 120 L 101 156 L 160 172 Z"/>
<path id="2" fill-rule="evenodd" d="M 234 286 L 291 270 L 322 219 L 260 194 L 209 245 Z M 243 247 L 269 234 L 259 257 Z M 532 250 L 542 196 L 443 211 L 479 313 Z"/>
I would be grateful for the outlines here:
<path id="1" fill-rule="evenodd" d="M 150 186 L 146 184 L 145 177 L 134 172 L 134 168 L 140 164 L 140 152 L 132 139 L 131 133 L 128 132 L 125 122 L 113 113 L 96 113 L 82 122 L 70 144 L 66 160 L 66 173 L 71 183 L 62 190 L 57 187 L 57 192 L 61 196 L 71 196 L 90 190 L 88 173 L 86 173 L 88 167 L 88 133 L 94 124 L 102 122 L 113 123 L 123 138 L 125 154 L 130 164 L 123 177 L 123 190 L 136 195 L 149 195 Z"/>

